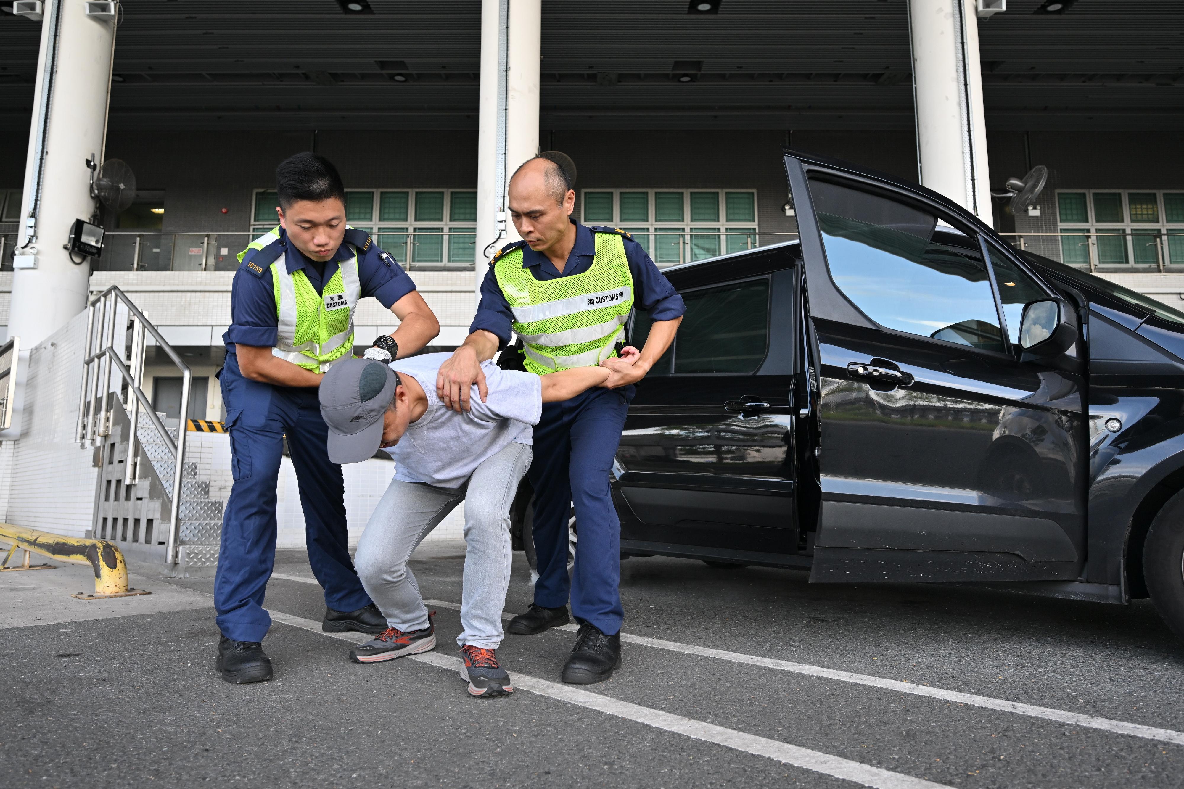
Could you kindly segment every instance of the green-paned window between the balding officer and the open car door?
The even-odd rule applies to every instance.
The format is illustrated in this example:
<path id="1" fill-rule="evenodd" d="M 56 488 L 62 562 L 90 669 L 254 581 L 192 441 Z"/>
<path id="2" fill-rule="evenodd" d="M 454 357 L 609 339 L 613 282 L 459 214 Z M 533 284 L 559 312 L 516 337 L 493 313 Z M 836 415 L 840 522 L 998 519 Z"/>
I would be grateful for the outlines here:
<path id="1" fill-rule="evenodd" d="M 663 268 L 758 246 L 751 190 L 586 190 L 580 214 L 628 231 Z"/>

